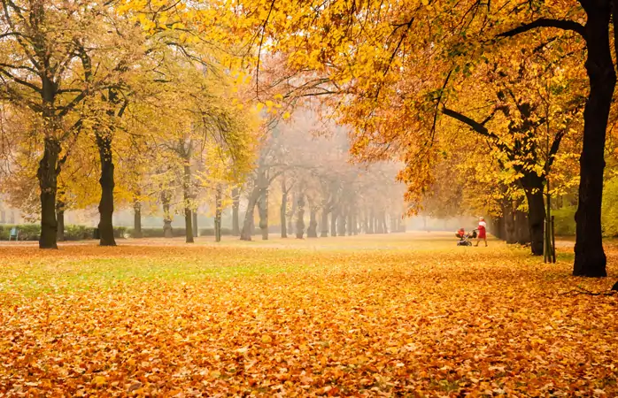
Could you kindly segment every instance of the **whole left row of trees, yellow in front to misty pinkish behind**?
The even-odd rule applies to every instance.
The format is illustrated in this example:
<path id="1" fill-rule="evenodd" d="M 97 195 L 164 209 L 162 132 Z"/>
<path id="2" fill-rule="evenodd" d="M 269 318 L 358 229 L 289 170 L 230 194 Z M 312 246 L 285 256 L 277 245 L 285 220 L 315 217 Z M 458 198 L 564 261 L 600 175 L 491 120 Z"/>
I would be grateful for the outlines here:
<path id="1" fill-rule="evenodd" d="M 289 119 L 281 103 L 259 102 L 282 100 L 276 84 L 252 92 L 234 49 L 206 41 L 182 15 L 149 25 L 139 13 L 120 15 L 115 2 L 3 5 L 1 188 L 40 219 L 42 249 L 64 239 L 66 210 L 93 206 L 104 246 L 116 244 L 118 206 L 134 210 L 137 237 L 143 215 L 162 210 L 172 236 L 174 214 L 182 214 L 188 242 L 204 206 L 218 240 L 228 207 L 245 240 L 257 208 L 267 239 L 269 202 L 280 202 L 283 236 L 317 236 L 318 213 L 322 236 L 401 228 L 395 169 L 348 165 L 343 129 L 321 125 L 307 109 Z M 271 64 L 276 81 L 284 68 Z"/>

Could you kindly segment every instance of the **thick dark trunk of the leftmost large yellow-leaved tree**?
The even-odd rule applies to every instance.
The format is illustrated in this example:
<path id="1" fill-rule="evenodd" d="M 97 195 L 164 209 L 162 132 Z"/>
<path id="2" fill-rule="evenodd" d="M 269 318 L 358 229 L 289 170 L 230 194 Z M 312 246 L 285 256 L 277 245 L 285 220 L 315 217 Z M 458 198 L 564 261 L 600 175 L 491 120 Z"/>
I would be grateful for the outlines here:
<path id="1" fill-rule="evenodd" d="M 56 220 L 56 190 L 58 188 L 58 155 L 60 143 L 46 137 L 43 156 L 36 176 L 41 188 L 41 237 L 40 249 L 58 249 L 58 223 Z"/>

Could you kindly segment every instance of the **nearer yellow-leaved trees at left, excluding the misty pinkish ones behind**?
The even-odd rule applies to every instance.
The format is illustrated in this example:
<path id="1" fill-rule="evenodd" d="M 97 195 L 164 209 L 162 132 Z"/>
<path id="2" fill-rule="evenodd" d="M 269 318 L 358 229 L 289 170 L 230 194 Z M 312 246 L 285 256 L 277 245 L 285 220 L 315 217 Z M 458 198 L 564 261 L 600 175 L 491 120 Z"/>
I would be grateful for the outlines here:
<path id="1" fill-rule="evenodd" d="M 192 236 L 197 196 L 242 182 L 260 134 L 228 57 L 178 19 L 145 32 L 114 2 L 2 5 L 2 190 L 39 215 L 40 247 L 57 247 L 65 210 L 93 204 L 102 245 L 118 203 L 136 220 L 162 203 L 167 226 L 181 207 Z"/>

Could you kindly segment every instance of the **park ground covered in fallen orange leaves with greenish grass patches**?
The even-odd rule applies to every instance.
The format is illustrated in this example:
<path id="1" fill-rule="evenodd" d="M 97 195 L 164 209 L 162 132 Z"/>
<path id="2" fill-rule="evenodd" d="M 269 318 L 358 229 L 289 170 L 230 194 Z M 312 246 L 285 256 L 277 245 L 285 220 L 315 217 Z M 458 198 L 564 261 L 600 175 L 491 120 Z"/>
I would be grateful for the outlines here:
<path id="1" fill-rule="evenodd" d="M 0 246 L 0 396 L 616 396 L 608 279 L 491 241 Z"/>

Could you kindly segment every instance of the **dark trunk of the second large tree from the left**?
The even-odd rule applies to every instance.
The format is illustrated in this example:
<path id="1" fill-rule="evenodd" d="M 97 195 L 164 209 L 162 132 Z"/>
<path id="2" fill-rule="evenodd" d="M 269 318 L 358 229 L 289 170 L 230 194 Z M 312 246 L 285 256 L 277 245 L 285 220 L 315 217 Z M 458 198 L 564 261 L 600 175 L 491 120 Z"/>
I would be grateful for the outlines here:
<path id="1" fill-rule="evenodd" d="M 112 159 L 112 137 L 102 133 L 96 133 L 97 148 L 101 161 L 101 200 L 98 205 L 99 223 L 98 230 L 101 246 L 116 246 L 113 237 L 113 188 L 115 186 Z"/>

